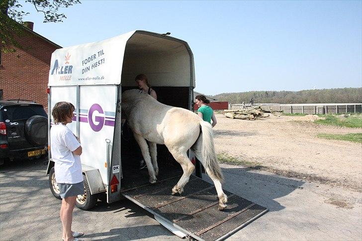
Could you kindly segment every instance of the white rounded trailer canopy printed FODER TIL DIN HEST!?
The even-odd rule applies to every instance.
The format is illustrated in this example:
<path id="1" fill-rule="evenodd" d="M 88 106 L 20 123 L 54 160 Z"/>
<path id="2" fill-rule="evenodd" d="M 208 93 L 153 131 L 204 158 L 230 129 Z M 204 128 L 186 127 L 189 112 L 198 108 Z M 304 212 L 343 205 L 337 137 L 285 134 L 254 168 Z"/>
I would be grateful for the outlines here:
<path id="1" fill-rule="evenodd" d="M 54 51 L 49 86 L 120 84 L 138 74 L 153 86 L 195 86 L 193 56 L 177 38 L 142 30 Z"/>

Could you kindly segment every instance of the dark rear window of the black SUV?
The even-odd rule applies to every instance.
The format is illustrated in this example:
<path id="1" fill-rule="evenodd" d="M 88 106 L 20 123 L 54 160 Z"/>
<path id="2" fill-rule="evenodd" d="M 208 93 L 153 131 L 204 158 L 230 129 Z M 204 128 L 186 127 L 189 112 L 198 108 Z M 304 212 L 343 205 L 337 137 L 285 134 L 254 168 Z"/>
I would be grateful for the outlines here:
<path id="1" fill-rule="evenodd" d="M 28 119 L 33 115 L 48 117 L 42 106 L 11 106 L 2 109 L 3 120 L 21 120 Z"/>

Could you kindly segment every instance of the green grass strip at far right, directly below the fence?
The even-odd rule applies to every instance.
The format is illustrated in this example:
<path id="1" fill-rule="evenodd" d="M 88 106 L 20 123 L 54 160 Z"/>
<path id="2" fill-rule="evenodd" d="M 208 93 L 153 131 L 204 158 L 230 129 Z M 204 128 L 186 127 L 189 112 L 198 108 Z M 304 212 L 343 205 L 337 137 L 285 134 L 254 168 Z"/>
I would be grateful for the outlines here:
<path id="1" fill-rule="evenodd" d="M 347 118 L 340 118 L 336 115 L 319 115 L 325 117 L 324 120 L 315 120 L 314 123 L 321 125 L 333 125 L 343 127 L 362 128 L 362 115 L 351 115 Z"/>

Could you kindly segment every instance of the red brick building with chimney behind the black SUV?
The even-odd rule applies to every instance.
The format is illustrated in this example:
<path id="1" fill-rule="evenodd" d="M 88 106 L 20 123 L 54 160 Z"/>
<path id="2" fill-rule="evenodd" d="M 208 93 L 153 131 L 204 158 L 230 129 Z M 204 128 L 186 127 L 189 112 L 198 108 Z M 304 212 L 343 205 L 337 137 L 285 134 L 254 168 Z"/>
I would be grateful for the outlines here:
<path id="1" fill-rule="evenodd" d="M 0 100 L 34 100 L 47 109 L 50 59 L 61 46 L 34 32 L 32 22 L 26 23 L 23 36 L 17 39 L 23 49 L 0 53 Z"/>

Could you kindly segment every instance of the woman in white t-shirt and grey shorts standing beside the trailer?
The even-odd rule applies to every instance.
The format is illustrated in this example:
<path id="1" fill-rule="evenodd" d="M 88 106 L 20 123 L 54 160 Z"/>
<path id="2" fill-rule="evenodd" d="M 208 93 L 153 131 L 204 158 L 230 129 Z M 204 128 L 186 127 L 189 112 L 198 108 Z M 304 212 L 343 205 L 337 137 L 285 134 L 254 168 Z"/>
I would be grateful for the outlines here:
<path id="1" fill-rule="evenodd" d="M 74 105 L 69 102 L 55 104 L 52 116 L 54 125 L 50 129 L 50 150 L 55 162 L 55 179 L 58 183 L 62 207 L 60 219 L 63 224 L 63 240 L 78 240 L 83 233 L 72 231 L 73 209 L 77 195 L 84 194 L 82 163 L 80 155 L 82 147 L 79 139 L 66 126 L 72 123 Z"/>

